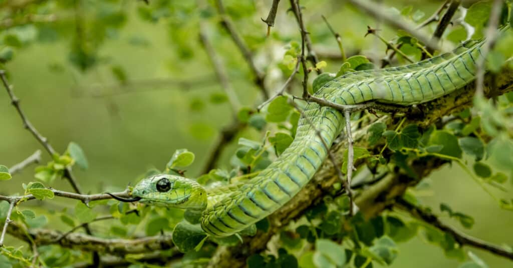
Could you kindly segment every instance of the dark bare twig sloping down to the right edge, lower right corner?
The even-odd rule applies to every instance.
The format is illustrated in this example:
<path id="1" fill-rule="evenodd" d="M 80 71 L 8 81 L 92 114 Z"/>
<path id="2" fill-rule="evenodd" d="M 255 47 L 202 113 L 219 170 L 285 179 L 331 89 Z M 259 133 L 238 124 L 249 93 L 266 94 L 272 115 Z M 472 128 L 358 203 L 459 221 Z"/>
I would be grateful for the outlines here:
<path id="1" fill-rule="evenodd" d="M 456 242 L 458 242 L 460 245 L 468 245 L 472 247 L 479 248 L 481 250 L 490 252 L 492 254 L 496 254 L 508 259 L 513 260 L 513 252 L 507 251 L 505 248 L 502 248 L 500 246 L 488 243 L 486 241 L 480 240 L 478 238 L 469 236 L 467 234 L 461 233 L 460 231 L 452 228 L 449 225 L 444 224 L 443 222 L 438 219 L 437 216 L 433 215 L 432 213 L 429 213 L 425 211 L 425 209 L 422 209 L 418 206 L 412 205 L 411 203 L 407 202 L 406 200 L 399 198 L 397 200 L 397 204 L 400 208 L 404 209 L 411 215 L 415 216 L 416 218 L 419 218 L 426 223 L 429 223 L 437 228 L 439 228 L 441 231 L 450 234 Z"/>

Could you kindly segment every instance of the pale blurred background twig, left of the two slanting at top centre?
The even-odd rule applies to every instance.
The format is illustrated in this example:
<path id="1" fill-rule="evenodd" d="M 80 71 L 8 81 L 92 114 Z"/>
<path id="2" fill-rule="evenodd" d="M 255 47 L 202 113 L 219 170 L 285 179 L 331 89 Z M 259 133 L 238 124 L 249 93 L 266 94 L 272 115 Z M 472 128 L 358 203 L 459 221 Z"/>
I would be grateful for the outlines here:
<path id="1" fill-rule="evenodd" d="M 229 82 L 228 74 L 226 73 L 223 61 L 215 52 L 212 43 L 210 43 L 210 40 L 208 39 L 208 35 L 206 33 L 206 25 L 204 23 L 200 23 L 200 41 L 203 47 L 205 48 L 205 51 L 207 52 L 210 62 L 214 67 L 214 72 L 219 80 L 219 83 L 221 83 L 221 86 L 223 87 L 226 95 L 228 96 L 228 101 L 230 102 L 232 112 L 235 117 L 237 112 L 239 111 L 241 103 L 239 102 L 239 98 L 235 94 L 235 91 L 233 90 Z"/>

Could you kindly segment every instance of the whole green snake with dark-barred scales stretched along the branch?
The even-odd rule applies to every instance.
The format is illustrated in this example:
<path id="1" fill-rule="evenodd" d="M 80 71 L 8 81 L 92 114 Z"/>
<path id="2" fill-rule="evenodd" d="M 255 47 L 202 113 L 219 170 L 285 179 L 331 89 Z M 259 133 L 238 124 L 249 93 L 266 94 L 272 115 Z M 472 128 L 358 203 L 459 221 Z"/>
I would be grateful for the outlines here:
<path id="1" fill-rule="evenodd" d="M 475 80 L 484 42 L 467 41 L 451 52 L 415 64 L 341 75 L 314 95 L 340 105 L 428 102 Z M 202 210 L 201 226 L 208 235 L 236 234 L 299 193 L 326 158 L 321 137 L 330 145 L 343 126 L 339 110 L 308 103 L 294 141 L 278 160 L 249 181 L 206 190 L 184 177 L 155 175 L 139 182 L 129 201 Z"/>

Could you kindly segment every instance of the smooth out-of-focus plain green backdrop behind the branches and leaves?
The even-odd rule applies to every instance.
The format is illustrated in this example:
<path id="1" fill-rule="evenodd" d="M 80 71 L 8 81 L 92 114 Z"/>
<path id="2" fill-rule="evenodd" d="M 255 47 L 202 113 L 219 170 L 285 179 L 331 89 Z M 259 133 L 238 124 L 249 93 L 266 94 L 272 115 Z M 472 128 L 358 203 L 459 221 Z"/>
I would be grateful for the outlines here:
<path id="1" fill-rule="evenodd" d="M 89 169 L 75 168 L 74 173 L 78 183 L 90 193 L 124 189 L 149 167 L 163 168 L 174 150 L 179 148 L 187 148 L 196 156 L 186 175 L 201 175 L 200 170 L 219 130 L 232 121 L 227 103 L 210 101 L 212 94 L 222 92 L 222 88 L 199 45 L 198 29 L 193 23 L 199 16 L 193 13 L 187 17 L 187 14 L 177 12 L 150 23 L 141 18 L 140 9 L 146 8 L 141 7 L 144 3 L 129 2 L 120 5 L 127 14 L 125 25 L 108 35 L 107 41 L 97 50 L 98 64 L 86 72 L 69 61 L 73 20 L 60 22 L 68 26 L 63 26 L 55 41 L 34 42 L 17 49 L 14 59 L 6 64 L 10 83 L 21 99 L 22 108 L 55 149 L 65 151 L 70 141 L 84 149 Z M 386 3 L 399 10 L 413 5 L 413 10 L 425 13 L 424 18 L 440 5 L 439 2 L 424 1 Z M 341 33 L 347 51 L 365 52 L 372 48 L 374 39 L 364 38 L 366 26 L 376 25 L 372 18 L 362 16 L 338 1 L 310 0 L 302 1 L 302 4 L 316 49 L 337 52 L 336 43 L 322 22 L 322 14 Z M 260 17 L 267 15 L 270 1 L 226 1 L 226 6 L 250 47 L 258 48 L 255 59 L 259 68 L 268 74 L 269 88 L 278 88 L 283 78 L 276 74 L 276 62 L 281 60 L 287 44 L 280 39 L 300 41 L 292 14 L 285 13 L 288 3 L 280 6 L 276 26 L 271 29 L 273 34 L 268 39 Z M 241 9 L 247 9 L 253 15 L 235 12 Z M 251 81 L 247 65 L 229 36 L 211 16 L 206 15 L 211 22 L 209 34 L 228 67 L 230 82 L 241 103 L 245 106 L 259 104 L 262 98 Z M 175 22 L 179 20 L 185 22 Z M 94 18 L 88 18 L 85 25 L 93 24 L 93 21 Z M 173 28 L 177 26 L 183 28 Z M 450 30 L 449 27 L 448 32 Z M 393 33 L 385 28 L 383 35 L 391 37 Z M 188 49 L 184 50 L 184 46 Z M 380 44 L 379 52 L 383 51 L 384 46 Z M 119 66 L 126 75 L 125 82 L 113 75 L 112 68 Z M 337 62 L 328 61 L 327 70 L 336 71 L 338 67 Z M 181 81 L 191 84 L 180 86 Z M 299 89 L 300 84 L 294 86 Z M 258 138 L 261 134 L 246 131 L 243 135 Z M 3 88 L 0 90 L 0 141 L 0 164 L 6 166 L 22 161 L 36 149 L 43 149 L 23 128 Z M 229 165 L 232 147 L 223 154 L 220 166 Z M 43 163 L 46 163 L 50 158 L 46 152 L 43 156 Z M 0 194 L 22 193 L 22 183 L 34 181 L 33 167 L 2 182 Z M 440 203 L 447 203 L 454 210 L 475 218 L 475 225 L 470 230 L 465 229 L 465 233 L 496 244 L 513 244 L 513 214 L 501 210 L 458 166 L 446 165 L 428 180 L 431 187 L 422 192 L 424 204 L 439 212 Z M 71 190 L 63 180 L 49 186 Z M 507 187 L 513 188 L 511 184 Z M 504 193 L 497 195 L 511 197 Z M 59 200 L 48 202 L 59 203 Z M 444 220 L 462 229 L 448 217 Z M 490 267 L 511 266 L 511 262 L 503 258 L 473 248 L 470 250 Z M 441 248 L 430 245 L 418 235 L 400 244 L 399 257 L 392 267 L 458 265 L 457 260 L 446 258 Z"/>

